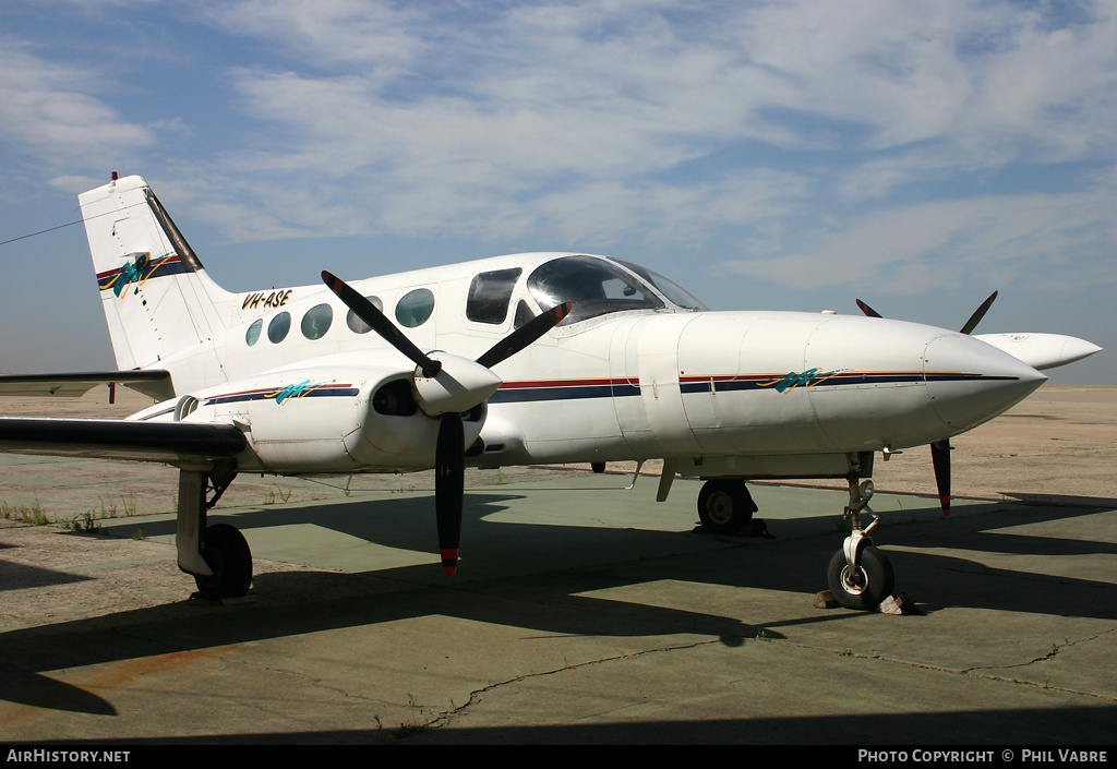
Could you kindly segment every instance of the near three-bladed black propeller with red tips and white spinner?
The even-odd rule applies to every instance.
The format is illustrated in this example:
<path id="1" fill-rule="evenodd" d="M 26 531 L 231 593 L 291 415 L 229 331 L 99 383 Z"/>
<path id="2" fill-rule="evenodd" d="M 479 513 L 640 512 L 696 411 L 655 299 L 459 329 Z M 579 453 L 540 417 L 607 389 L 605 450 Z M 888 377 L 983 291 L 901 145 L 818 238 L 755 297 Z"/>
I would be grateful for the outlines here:
<path id="1" fill-rule="evenodd" d="M 561 304 L 536 315 L 471 361 L 441 351 L 424 353 L 376 305 L 344 281 L 326 270 L 322 272 L 322 281 L 357 317 L 416 364 L 416 400 L 423 414 L 439 419 L 435 445 L 435 515 L 442 571 L 452 577 L 458 567 L 466 478 L 461 414 L 485 402 L 500 387 L 500 378 L 490 368 L 557 325 L 570 314 L 571 304 Z"/>

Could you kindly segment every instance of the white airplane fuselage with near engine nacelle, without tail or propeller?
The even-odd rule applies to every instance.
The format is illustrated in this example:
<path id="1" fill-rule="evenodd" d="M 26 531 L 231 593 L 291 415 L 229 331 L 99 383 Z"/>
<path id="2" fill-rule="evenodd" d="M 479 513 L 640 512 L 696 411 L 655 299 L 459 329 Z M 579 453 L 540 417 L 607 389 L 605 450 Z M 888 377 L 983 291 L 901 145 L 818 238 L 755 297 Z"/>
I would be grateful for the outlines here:
<path id="1" fill-rule="evenodd" d="M 841 475 L 848 454 L 957 435 L 1044 379 L 944 329 L 710 312 L 657 278 L 603 257 L 528 254 L 352 285 L 418 346 L 469 359 L 522 313 L 574 301 L 567 322 L 494 368 L 503 383 L 487 414 L 465 423 L 481 466 L 671 457 L 696 475 Z M 179 397 L 135 418 L 233 421 L 252 449 L 238 458 L 246 471 L 432 465 L 437 428 L 407 402 L 413 365 L 325 287 L 240 294 L 226 312 L 227 333 L 159 362 Z"/>

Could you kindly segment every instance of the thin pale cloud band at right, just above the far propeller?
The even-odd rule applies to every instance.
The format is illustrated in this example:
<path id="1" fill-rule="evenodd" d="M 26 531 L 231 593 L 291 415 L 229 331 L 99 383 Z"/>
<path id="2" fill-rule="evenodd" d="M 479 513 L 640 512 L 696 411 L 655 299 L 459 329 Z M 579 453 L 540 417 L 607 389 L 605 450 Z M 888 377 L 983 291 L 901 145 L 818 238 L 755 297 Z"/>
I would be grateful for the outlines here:
<path id="1" fill-rule="evenodd" d="M 1082 293 L 1117 283 L 1115 179 L 1063 194 L 989 196 L 895 209 L 814 232 L 800 248 L 725 263 L 732 273 L 802 288 L 871 283 L 920 294 L 976 283 Z"/>

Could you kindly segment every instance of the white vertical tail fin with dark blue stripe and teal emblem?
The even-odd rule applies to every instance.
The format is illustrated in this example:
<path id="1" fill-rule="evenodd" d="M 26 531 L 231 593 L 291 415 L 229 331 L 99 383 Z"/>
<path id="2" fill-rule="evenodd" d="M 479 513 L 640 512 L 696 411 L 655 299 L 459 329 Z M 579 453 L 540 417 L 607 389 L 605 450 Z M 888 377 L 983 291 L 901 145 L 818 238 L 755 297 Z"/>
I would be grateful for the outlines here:
<path id="1" fill-rule="evenodd" d="M 206 274 L 147 182 L 114 178 L 78 202 L 116 365 L 172 369 L 176 389 L 223 379 L 214 341 L 232 295 Z M 174 359 L 192 373 L 179 376 Z"/>

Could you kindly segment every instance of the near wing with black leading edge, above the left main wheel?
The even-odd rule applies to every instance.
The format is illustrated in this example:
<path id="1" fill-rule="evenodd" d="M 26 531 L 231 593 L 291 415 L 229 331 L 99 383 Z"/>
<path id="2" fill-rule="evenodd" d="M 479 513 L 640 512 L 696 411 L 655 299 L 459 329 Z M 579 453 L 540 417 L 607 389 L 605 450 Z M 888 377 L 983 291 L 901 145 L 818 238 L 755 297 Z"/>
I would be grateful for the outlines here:
<path id="1" fill-rule="evenodd" d="M 181 464 L 231 458 L 248 447 L 227 424 L 0 418 L 0 452 Z"/>

